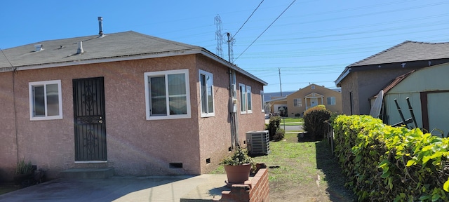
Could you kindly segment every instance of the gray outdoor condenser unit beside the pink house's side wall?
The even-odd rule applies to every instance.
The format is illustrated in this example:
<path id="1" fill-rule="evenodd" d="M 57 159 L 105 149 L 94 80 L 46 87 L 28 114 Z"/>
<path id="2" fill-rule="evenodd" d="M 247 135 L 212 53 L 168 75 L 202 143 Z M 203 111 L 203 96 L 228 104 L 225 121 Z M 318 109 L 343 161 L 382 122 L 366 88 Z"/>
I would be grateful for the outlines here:
<path id="1" fill-rule="evenodd" d="M 269 154 L 268 130 L 246 132 L 246 144 L 250 154 Z"/>

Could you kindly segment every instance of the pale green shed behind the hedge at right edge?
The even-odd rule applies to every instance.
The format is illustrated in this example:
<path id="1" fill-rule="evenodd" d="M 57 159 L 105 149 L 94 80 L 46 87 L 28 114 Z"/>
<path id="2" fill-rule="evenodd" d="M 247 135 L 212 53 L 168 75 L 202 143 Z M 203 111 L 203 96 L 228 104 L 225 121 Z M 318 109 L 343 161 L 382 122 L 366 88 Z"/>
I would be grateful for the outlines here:
<path id="1" fill-rule="evenodd" d="M 404 119 L 412 117 L 408 102 L 413 109 L 415 124 L 408 123 L 410 128 L 424 128 L 434 134 L 443 131 L 449 134 L 449 63 L 413 70 L 398 76 L 384 90 L 384 123 L 393 125 L 402 121 L 396 99 Z"/>

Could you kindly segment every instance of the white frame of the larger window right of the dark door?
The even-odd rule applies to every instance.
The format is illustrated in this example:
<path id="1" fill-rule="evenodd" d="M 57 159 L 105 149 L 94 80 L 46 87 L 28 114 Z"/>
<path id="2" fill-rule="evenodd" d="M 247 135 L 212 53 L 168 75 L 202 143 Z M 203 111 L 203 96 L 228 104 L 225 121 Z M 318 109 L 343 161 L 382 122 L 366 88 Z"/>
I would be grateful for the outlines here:
<path id="1" fill-rule="evenodd" d="M 167 76 L 169 74 L 184 74 L 185 75 L 185 92 L 186 92 L 186 107 L 187 107 L 187 114 L 173 114 L 171 115 L 168 110 L 170 109 L 170 103 L 169 103 L 169 96 L 166 96 L 166 107 L 167 107 L 167 113 L 165 116 L 157 115 L 152 116 L 151 115 L 151 99 L 150 99 L 150 86 L 149 86 L 149 77 L 150 76 L 165 76 L 166 80 L 166 93 L 168 93 L 168 79 Z M 144 73 L 144 79 L 145 79 L 145 109 L 146 109 L 146 116 L 147 120 L 161 120 L 161 119 L 189 119 L 192 116 L 191 113 L 191 106 L 190 106 L 190 87 L 189 87 L 189 69 L 178 69 L 178 70 L 167 70 L 167 71 L 159 71 L 159 72 L 145 72 Z"/>

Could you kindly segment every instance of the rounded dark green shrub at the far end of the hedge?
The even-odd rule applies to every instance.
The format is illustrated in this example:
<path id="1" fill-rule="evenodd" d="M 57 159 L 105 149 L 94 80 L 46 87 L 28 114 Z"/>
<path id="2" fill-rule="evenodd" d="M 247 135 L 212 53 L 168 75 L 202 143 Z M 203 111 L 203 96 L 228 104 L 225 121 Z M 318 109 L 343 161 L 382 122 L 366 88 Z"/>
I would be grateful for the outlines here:
<path id="1" fill-rule="evenodd" d="M 324 121 L 330 118 L 330 111 L 324 105 L 311 107 L 304 112 L 304 130 L 315 137 L 315 140 L 321 140 L 326 134 L 328 127 Z"/>

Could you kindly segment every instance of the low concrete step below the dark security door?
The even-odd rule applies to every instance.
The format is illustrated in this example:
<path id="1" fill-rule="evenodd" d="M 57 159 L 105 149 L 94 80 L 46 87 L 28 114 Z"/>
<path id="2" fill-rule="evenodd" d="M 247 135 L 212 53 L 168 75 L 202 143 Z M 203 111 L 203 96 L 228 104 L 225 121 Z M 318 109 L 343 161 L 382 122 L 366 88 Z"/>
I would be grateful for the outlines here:
<path id="1" fill-rule="evenodd" d="M 70 168 L 61 175 L 67 179 L 106 179 L 114 176 L 114 168 Z"/>

